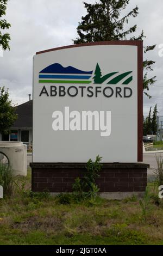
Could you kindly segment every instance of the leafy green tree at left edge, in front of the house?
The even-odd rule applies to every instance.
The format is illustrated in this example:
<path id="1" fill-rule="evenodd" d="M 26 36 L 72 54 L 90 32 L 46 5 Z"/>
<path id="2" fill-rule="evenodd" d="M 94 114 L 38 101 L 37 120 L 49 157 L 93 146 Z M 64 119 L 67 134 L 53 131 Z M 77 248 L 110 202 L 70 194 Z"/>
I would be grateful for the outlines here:
<path id="1" fill-rule="evenodd" d="M 4 87 L 0 87 L 0 133 L 9 133 L 9 128 L 17 119 L 15 109 L 9 100 L 8 89 L 5 90 Z"/>

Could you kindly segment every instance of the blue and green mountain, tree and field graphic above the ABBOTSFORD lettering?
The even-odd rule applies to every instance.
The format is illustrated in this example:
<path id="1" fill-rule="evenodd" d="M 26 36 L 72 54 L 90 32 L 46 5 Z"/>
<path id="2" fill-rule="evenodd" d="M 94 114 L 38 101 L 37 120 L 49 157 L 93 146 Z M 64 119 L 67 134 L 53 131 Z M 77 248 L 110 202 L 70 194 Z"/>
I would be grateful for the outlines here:
<path id="1" fill-rule="evenodd" d="M 107 84 L 117 84 L 122 81 L 123 78 L 130 75 L 133 71 L 128 71 L 120 74 L 120 72 L 111 72 L 106 75 L 102 75 L 101 68 L 98 63 L 95 69 L 95 76 L 92 77 L 93 71 L 83 71 L 74 68 L 73 66 L 67 66 L 64 68 L 59 63 L 54 63 L 47 66 L 39 73 L 39 83 L 71 83 L 71 84 L 102 84 L 106 80 L 109 80 L 112 76 L 116 77 L 111 78 L 110 81 L 107 81 Z M 93 80 L 93 81 L 92 81 Z M 122 84 L 129 84 L 133 80 L 133 76 L 129 76 Z"/>

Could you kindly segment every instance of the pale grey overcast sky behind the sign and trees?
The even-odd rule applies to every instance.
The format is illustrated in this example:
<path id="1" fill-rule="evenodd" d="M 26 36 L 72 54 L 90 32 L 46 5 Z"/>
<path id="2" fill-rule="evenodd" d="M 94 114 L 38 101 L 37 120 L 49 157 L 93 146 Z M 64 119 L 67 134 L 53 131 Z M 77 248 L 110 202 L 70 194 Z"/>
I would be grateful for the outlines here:
<path id="1" fill-rule="evenodd" d="M 95 0 L 85 0 L 95 3 Z M 154 71 L 157 82 L 151 87 L 152 99 L 144 97 L 144 115 L 149 107 L 158 103 L 159 115 L 163 116 L 163 57 L 159 57 L 159 44 L 163 44 L 163 1 L 131 0 L 124 11 L 136 4 L 139 16 L 129 20 L 129 26 L 137 24 L 137 33 L 143 29 L 146 39 L 144 45 L 157 44 L 154 51 L 144 58 L 156 61 Z M 28 101 L 32 94 L 32 60 L 35 52 L 59 46 L 71 45 L 77 36 L 76 28 L 81 17 L 86 14 L 82 0 L 10 0 L 6 19 L 11 23 L 10 51 L 0 57 L 0 87 L 9 88 L 13 103 Z"/>

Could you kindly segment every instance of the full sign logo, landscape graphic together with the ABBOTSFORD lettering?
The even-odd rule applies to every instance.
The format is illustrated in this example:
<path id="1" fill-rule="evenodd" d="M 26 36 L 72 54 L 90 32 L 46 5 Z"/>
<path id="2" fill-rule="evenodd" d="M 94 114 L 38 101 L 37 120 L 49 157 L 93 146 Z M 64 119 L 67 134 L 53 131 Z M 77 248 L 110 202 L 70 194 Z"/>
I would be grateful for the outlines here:
<path id="1" fill-rule="evenodd" d="M 124 97 L 133 95 L 133 90 L 127 87 L 133 81 L 133 71 L 109 72 L 102 74 L 99 64 L 95 71 L 85 71 L 73 66 L 62 66 L 54 63 L 39 72 L 39 83 L 43 84 L 39 96 L 70 97 Z M 112 85 L 116 86 L 112 86 Z M 123 86 L 121 86 L 123 85 Z"/>

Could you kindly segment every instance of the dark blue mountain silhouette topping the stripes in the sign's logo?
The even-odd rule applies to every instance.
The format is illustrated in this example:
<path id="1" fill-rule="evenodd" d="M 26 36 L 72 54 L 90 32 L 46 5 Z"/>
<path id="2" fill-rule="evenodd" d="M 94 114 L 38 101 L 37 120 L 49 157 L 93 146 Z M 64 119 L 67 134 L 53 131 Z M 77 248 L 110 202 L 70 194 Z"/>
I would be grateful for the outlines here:
<path id="1" fill-rule="evenodd" d="M 73 66 L 64 66 L 60 65 L 59 63 L 54 63 L 52 65 L 47 66 L 47 68 L 42 69 L 40 73 L 58 73 L 58 74 L 92 74 L 93 71 L 82 71 Z"/>

